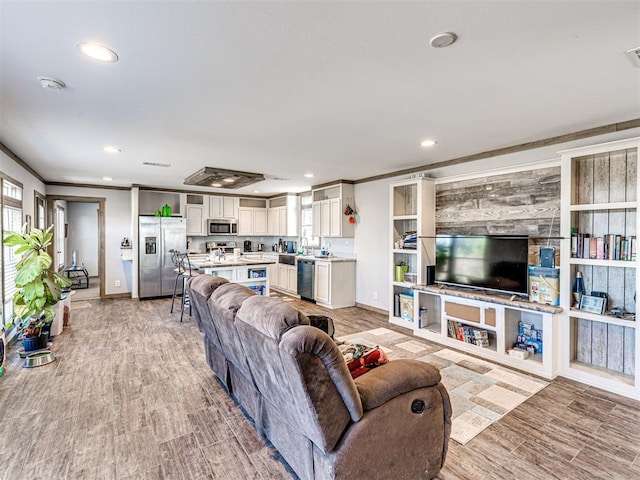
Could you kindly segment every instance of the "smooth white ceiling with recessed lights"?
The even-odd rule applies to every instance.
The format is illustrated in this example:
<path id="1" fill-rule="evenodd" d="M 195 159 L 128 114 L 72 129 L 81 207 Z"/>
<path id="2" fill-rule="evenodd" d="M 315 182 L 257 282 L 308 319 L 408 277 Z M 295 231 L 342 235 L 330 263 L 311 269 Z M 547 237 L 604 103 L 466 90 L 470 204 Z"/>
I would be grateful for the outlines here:
<path id="1" fill-rule="evenodd" d="M 638 1 L 0 0 L 0 27 L 0 141 L 51 182 L 297 192 L 640 117 Z"/>

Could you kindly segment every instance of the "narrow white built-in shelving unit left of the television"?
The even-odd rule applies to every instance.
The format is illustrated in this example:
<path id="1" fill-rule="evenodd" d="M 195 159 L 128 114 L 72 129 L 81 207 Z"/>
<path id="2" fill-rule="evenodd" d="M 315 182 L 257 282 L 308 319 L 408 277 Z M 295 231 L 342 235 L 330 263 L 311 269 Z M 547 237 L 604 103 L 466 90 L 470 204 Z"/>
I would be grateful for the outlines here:
<path id="1" fill-rule="evenodd" d="M 389 322 L 414 328 L 413 287 L 426 283 L 426 267 L 435 264 L 435 185 L 415 178 L 391 185 Z M 415 232 L 415 241 L 406 242 Z M 413 240 L 413 239 L 412 239 Z M 406 272 L 397 267 L 404 266 Z"/>

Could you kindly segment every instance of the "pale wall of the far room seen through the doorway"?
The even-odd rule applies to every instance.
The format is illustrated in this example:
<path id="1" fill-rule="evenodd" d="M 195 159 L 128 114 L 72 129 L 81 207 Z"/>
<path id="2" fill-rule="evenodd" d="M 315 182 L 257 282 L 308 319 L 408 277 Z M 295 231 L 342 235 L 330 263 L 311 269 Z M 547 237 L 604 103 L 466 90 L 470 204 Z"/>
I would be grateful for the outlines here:
<path id="1" fill-rule="evenodd" d="M 98 276 L 98 204 L 67 202 L 67 261 L 71 264 L 73 251 L 77 252 L 78 265 L 84 263 L 90 277 Z"/>

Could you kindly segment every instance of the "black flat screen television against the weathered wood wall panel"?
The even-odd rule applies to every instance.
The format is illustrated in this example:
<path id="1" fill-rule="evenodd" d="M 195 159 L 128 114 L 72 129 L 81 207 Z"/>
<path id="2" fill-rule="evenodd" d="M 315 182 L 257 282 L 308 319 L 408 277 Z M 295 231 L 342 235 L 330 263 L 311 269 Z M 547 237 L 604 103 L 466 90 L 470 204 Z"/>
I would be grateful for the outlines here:
<path id="1" fill-rule="evenodd" d="M 436 236 L 436 283 L 527 295 L 526 236 Z"/>

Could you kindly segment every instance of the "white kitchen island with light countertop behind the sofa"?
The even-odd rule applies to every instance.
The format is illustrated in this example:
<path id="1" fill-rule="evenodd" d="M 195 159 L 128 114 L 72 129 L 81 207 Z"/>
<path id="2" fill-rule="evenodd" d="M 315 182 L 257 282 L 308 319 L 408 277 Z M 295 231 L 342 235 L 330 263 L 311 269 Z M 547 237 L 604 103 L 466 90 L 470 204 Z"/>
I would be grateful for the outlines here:
<path id="1" fill-rule="evenodd" d="M 189 255 L 189 261 L 204 274 L 241 283 L 257 295 L 269 295 L 269 265 L 276 263 L 271 259 L 241 257 L 217 260 L 209 255 Z"/>

